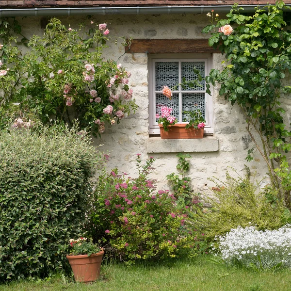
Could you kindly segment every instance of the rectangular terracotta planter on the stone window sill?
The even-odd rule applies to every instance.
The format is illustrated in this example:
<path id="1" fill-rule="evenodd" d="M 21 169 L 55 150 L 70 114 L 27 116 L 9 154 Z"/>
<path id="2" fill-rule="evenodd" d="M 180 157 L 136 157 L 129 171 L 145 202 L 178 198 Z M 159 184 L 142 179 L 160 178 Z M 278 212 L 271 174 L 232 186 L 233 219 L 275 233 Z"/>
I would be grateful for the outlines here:
<path id="1" fill-rule="evenodd" d="M 174 124 L 169 126 L 169 131 L 164 131 L 162 124 L 159 124 L 161 139 L 184 139 L 203 138 L 204 129 L 186 129 L 185 124 Z"/>

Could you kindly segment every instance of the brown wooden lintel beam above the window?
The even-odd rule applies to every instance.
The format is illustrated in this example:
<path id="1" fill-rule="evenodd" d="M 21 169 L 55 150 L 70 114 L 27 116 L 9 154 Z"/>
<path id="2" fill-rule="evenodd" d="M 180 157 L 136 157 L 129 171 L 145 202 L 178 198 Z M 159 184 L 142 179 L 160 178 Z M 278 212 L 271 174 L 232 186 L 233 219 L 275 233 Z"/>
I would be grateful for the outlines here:
<path id="1" fill-rule="evenodd" d="M 220 52 L 208 45 L 208 39 L 134 39 L 128 53 L 211 53 Z"/>

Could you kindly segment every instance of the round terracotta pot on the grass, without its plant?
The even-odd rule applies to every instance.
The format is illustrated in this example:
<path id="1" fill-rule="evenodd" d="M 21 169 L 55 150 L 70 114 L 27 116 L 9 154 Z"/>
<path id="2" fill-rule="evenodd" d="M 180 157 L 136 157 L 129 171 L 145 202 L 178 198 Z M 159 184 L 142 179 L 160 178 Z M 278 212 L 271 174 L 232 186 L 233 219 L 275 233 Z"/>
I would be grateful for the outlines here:
<path id="1" fill-rule="evenodd" d="M 76 282 L 92 282 L 96 281 L 100 275 L 101 261 L 104 252 L 97 254 L 66 256 L 72 267 Z"/>

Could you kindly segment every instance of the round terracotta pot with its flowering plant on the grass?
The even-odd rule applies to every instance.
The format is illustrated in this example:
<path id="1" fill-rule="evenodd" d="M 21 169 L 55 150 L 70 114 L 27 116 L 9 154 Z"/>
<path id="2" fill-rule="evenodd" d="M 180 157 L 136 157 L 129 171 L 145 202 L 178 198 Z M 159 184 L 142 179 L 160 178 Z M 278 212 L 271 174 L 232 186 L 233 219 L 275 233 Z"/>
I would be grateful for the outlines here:
<path id="1" fill-rule="evenodd" d="M 100 275 L 103 249 L 87 238 L 70 239 L 70 254 L 66 256 L 77 282 L 96 281 Z"/>

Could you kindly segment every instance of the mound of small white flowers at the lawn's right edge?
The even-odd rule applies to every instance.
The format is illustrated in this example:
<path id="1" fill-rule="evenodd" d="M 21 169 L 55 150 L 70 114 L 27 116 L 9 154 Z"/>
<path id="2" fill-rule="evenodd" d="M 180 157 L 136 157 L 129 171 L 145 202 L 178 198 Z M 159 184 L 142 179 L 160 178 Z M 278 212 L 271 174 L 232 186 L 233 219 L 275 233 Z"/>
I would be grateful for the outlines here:
<path id="1" fill-rule="evenodd" d="M 219 251 L 222 259 L 230 264 L 260 269 L 291 268 L 291 226 L 265 231 L 239 226 L 219 237 Z"/>

